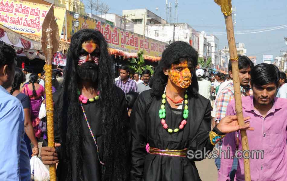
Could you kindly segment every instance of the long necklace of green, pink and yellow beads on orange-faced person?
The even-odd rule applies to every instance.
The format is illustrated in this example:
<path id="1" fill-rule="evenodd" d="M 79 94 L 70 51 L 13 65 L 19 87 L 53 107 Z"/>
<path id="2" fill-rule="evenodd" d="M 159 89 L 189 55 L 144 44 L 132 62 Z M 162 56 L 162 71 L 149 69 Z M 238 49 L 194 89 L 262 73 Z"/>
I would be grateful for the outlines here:
<path id="1" fill-rule="evenodd" d="M 188 100 L 187 100 L 187 98 L 188 98 L 187 90 L 185 90 L 185 95 L 184 95 L 184 98 L 185 98 L 184 104 L 185 104 L 185 106 L 184 106 L 184 110 L 183 110 L 183 119 L 182 119 L 181 124 L 179 125 L 179 128 L 176 128 L 176 129 L 170 129 L 170 128 L 168 128 L 168 125 L 166 124 L 166 120 L 165 120 L 165 118 L 166 118 L 166 109 L 165 109 L 166 90 L 164 90 L 164 93 L 163 93 L 163 95 L 162 95 L 162 98 L 163 98 L 163 100 L 162 100 L 162 105 L 161 105 L 161 107 L 160 107 L 161 109 L 159 110 L 159 117 L 160 117 L 160 119 L 161 119 L 161 124 L 163 125 L 163 128 L 166 129 L 169 133 L 173 133 L 173 132 L 176 133 L 176 132 L 179 131 L 179 129 L 183 129 L 184 126 L 185 126 L 186 123 L 187 123 L 186 119 L 188 118 L 188 113 L 189 113 L 189 111 L 188 111 L 188 106 L 187 106 L 187 103 L 188 103 Z"/>

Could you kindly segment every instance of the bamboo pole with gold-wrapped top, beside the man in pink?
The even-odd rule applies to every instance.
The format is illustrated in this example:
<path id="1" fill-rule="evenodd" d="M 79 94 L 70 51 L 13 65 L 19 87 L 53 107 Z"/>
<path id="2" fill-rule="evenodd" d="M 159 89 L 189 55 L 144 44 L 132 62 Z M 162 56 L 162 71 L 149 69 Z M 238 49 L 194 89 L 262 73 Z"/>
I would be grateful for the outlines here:
<path id="1" fill-rule="evenodd" d="M 237 56 L 237 49 L 236 49 L 235 38 L 234 38 L 233 21 L 232 21 L 232 16 L 231 16 L 232 15 L 231 0 L 214 0 L 214 2 L 220 5 L 221 11 L 224 14 L 230 60 L 232 61 L 231 65 L 232 65 L 232 74 L 233 74 L 233 82 L 234 82 L 235 110 L 237 114 L 238 124 L 243 126 L 244 119 L 243 119 L 243 113 L 242 113 L 240 81 L 239 81 L 239 76 L 238 76 L 239 75 L 238 56 Z M 246 131 L 240 130 L 240 134 L 241 134 L 241 143 L 242 143 L 243 151 L 249 150 Z M 245 159 L 245 158 L 243 159 L 244 159 L 245 181 L 251 181 L 249 159 Z"/>

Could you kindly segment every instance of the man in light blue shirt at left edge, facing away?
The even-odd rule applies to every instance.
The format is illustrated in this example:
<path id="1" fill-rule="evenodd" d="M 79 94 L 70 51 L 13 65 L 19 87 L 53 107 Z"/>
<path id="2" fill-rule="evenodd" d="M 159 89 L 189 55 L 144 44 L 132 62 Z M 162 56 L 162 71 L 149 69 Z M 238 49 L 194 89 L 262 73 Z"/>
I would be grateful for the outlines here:
<path id="1" fill-rule="evenodd" d="M 6 90 L 14 79 L 15 58 L 15 50 L 0 42 L 0 180 L 30 181 L 30 161 L 23 139 L 23 107 Z"/>

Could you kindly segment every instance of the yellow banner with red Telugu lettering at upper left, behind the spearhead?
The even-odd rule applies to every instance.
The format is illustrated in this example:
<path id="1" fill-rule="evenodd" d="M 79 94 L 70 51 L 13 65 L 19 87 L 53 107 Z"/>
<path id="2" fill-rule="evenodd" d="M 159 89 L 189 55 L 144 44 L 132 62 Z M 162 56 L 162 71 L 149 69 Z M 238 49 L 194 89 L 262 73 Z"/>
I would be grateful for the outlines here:
<path id="1" fill-rule="evenodd" d="M 41 37 L 42 23 L 49 9 L 50 5 L 20 0 L 1 0 L 0 24 L 18 33 Z M 66 9 L 54 7 L 54 11 L 61 35 Z"/>

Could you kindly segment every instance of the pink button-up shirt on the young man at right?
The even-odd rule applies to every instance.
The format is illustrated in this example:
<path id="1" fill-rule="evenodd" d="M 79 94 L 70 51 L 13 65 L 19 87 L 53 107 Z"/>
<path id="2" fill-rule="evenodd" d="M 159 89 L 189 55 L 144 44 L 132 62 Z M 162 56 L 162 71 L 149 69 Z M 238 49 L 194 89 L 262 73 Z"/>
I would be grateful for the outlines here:
<path id="1" fill-rule="evenodd" d="M 263 159 L 250 158 L 251 180 L 286 181 L 287 180 L 287 99 L 275 97 L 272 108 L 263 118 L 254 110 L 253 96 L 242 97 L 243 116 L 250 116 L 250 126 L 254 131 L 247 131 L 249 150 L 263 150 Z M 234 100 L 227 106 L 226 115 L 236 115 Z M 230 157 L 235 154 L 235 138 L 237 132 L 229 133 L 223 139 L 222 150 L 230 147 Z M 242 150 L 241 135 L 239 132 L 239 150 Z M 223 154 L 222 154 L 223 155 Z M 241 154 L 240 154 L 241 155 Z M 230 180 L 232 159 L 221 158 L 218 172 L 218 181 Z M 237 172 L 234 180 L 244 181 L 243 158 L 238 159 Z"/>

